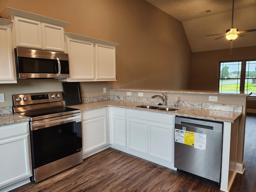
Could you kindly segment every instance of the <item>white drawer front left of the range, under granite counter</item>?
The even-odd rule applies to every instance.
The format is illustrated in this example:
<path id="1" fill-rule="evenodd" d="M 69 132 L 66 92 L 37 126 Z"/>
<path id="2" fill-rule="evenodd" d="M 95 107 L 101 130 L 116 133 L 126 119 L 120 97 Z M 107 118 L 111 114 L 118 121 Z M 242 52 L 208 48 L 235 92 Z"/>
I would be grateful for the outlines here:
<path id="1" fill-rule="evenodd" d="M 0 126 L 0 139 L 28 133 L 28 122 Z"/>

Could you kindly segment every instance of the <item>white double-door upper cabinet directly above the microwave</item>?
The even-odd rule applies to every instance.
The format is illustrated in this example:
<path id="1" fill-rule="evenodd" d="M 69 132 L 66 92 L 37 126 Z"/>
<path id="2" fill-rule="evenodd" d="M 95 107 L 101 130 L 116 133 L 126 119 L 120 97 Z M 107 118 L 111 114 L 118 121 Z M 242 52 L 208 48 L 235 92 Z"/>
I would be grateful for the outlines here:
<path id="1" fill-rule="evenodd" d="M 63 28 L 67 22 L 9 7 L 1 16 L 14 22 L 14 47 L 65 52 Z"/>

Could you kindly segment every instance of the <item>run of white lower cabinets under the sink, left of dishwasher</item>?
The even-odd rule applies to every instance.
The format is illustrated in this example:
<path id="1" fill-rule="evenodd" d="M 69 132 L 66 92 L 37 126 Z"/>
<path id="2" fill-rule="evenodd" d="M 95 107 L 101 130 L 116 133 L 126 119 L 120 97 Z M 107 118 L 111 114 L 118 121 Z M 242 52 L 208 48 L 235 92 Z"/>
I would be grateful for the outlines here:
<path id="1" fill-rule="evenodd" d="M 111 107 L 111 147 L 175 169 L 174 117 Z"/>

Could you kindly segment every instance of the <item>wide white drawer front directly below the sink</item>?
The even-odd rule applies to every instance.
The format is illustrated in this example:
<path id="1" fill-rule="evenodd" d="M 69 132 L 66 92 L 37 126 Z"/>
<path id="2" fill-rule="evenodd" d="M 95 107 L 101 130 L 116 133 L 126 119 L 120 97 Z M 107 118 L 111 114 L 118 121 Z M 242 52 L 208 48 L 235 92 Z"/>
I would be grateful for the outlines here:
<path id="1" fill-rule="evenodd" d="M 151 122 L 159 122 L 174 125 L 174 116 L 169 114 L 159 114 L 154 112 L 142 112 L 138 110 L 128 110 L 127 117 L 136 118 Z"/>

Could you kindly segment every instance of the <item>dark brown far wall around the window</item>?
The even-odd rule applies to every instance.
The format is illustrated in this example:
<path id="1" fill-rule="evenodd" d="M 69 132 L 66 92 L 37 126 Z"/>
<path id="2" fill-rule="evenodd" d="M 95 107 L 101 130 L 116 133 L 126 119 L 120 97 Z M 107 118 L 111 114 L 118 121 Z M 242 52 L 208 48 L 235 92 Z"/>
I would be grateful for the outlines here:
<path id="1" fill-rule="evenodd" d="M 251 34 L 248 34 L 251 35 Z M 235 43 L 235 41 L 234 41 Z M 256 60 L 256 46 L 213 50 L 192 53 L 190 89 L 218 90 L 218 68 L 220 61 L 234 61 L 242 59 Z"/>

